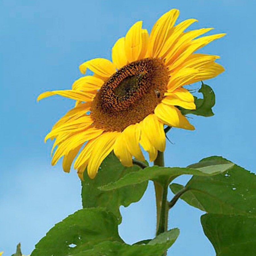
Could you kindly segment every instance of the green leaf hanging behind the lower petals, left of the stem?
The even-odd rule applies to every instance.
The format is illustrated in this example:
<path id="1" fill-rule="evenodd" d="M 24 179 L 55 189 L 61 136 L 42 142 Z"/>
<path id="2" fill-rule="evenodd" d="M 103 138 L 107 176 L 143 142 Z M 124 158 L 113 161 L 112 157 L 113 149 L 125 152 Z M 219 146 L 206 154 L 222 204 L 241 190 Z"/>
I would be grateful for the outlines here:
<path id="1" fill-rule="evenodd" d="M 102 191 L 98 187 L 139 170 L 138 166 L 124 167 L 114 154 L 110 154 L 101 164 L 94 179 L 90 179 L 87 172 L 84 172 L 84 181 L 82 181 L 83 207 L 105 207 L 112 211 L 121 223 L 120 205 L 127 207 L 131 203 L 139 201 L 146 190 L 147 181 L 114 191 Z"/>

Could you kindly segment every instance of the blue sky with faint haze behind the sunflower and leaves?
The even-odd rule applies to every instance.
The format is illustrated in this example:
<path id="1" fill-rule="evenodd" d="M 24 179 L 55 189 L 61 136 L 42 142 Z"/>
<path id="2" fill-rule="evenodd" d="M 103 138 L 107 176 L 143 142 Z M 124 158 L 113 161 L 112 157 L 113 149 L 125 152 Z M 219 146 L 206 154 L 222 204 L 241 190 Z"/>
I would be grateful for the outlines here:
<path id="1" fill-rule="evenodd" d="M 0 251 L 11 255 L 21 242 L 24 254 L 58 221 L 81 208 L 80 181 L 61 163 L 51 167 L 52 143 L 44 144 L 51 126 L 73 101 L 46 90 L 69 89 L 81 74 L 79 65 L 110 58 L 111 47 L 129 27 L 143 20 L 150 30 L 166 11 L 180 10 L 178 21 L 197 18 L 191 28 L 214 27 L 227 36 L 201 52 L 220 55 L 226 71 L 206 81 L 216 94 L 214 117 L 193 117 L 195 131 L 173 129 L 166 165 L 186 166 L 203 157 L 222 155 L 255 172 L 256 36 L 254 1 L 0 1 Z M 198 84 L 199 87 L 199 84 Z M 179 178 L 184 183 L 187 177 Z M 150 183 L 140 203 L 122 208 L 119 230 L 127 243 L 152 238 L 154 192 Z M 203 212 L 182 201 L 170 211 L 169 226 L 181 235 L 172 255 L 213 256 L 200 226 Z"/>

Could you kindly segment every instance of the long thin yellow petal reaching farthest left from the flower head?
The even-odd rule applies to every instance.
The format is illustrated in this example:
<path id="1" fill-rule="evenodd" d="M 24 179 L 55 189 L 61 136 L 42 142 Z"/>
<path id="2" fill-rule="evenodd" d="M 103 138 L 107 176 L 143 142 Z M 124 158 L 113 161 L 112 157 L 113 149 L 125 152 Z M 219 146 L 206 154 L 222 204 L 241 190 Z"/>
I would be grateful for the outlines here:
<path id="1" fill-rule="evenodd" d="M 43 92 L 38 96 L 37 101 L 53 95 L 60 95 L 66 98 L 84 102 L 84 101 L 92 101 L 95 96 L 95 93 L 80 92 L 80 91 L 73 91 L 73 90 L 58 90 L 58 91 L 52 91 L 52 92 Z"/>

